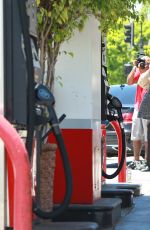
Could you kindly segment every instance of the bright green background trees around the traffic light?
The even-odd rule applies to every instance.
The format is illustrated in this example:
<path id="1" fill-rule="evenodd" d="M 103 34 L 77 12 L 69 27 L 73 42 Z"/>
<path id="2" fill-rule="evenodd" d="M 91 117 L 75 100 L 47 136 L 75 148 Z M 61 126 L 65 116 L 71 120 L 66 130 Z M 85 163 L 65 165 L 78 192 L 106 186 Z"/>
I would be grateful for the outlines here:
<path id="1" fill-rule="evenodd" d="M 145 8 L 145 7 L 144 7 Z M 134 48 L 130 48 L 130 45 L 124 42 L 124 27 L 116 30 L 109 30 L 107 33 L 107 65 L 108 65 L 108 81 L 109 84 L 124 84 L 126 83 L 126 75 L 124 72 L 124 64 L 132 61 L 136 58 L 139 53 L 139 44 L 141 36 L 141 23 L 142 23 L 142 37 L 143 37 L 143 48 L 146 55 L 150 55 L 150 20 L 148 20 L 147 13 L 150 6 L 147 5 L 144 10 L 145 15 L 143 21 L 134 22 L 135 36 Z M 142 9 L 143 12 L 143 9 Z M 129 21 L 124 24 L 130 23 Z M 120 22 L 118 23 L 120 24 Z"/>

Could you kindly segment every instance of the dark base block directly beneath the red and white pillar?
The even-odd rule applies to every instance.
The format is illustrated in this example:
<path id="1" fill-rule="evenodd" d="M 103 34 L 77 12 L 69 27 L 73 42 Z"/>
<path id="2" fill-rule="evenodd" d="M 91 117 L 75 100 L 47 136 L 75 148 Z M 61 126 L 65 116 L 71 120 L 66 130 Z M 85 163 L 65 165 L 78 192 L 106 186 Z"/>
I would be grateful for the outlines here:
<path id="1" fill-rule="evenodd" d="M 121 199 L 101 198 L 93 204 L 71 204 L 53 221 L 92 221 L 103 228 L 114 227 L 121 217 Z"/>

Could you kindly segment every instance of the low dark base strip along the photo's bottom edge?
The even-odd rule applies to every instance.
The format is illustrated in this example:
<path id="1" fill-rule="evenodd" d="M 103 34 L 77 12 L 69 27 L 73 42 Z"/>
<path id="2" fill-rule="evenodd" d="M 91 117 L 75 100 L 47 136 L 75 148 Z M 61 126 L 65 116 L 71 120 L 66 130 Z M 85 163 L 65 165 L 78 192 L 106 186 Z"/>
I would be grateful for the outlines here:
<path id="1" fill-rule="evenodd" d="M 33 224 L 33 230 L 100 230 L 98 224 L 92 222 L 59 222 L 46 224 Z"/>

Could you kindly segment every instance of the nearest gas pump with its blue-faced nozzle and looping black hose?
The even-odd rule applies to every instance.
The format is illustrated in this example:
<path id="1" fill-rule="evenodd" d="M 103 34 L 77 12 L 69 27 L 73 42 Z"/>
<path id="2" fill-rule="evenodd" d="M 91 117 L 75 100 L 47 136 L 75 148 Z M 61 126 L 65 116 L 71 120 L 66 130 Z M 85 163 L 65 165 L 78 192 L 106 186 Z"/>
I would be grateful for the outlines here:
<path id="1" fill-rule="evenodd" d="M 26 2 L 26 5 L 25 5 Z M 28 17 L 27 17 L 27 14 Z M 36 49 L 36 5 L 35 1 L 4 1 L 4 47 L 5 47 L 5 117 L 23 135 L 29 159 L 32 159 L 33 139 L 41 133 L 43 126 L 50 124 L 62 153 L 66 176 L 66 195 L 62 204 L 53 212 L 40 209 L 38 198 L 34 200 L 33 211 L 42 218 L 60 215 L 67 207 L 72 192 L 71 171 L 67 151 L 59 128 L 54 106 L 54 97 L 41 83 L 41 76 L 35 77 L 39 68 Z M 30 29 L 29 29 L 30 28 Z M 9 68 L 8 68 L 9 66 Z M 46 114 L 46 115 L 45 115 Z M 37 128 L 39 127 L 39 128 Z M 50 132 L 48 131 L 48 133 Z M 47 133 L 42 133 L 37 142 L 42 142 Z M 39 148 L 41 147 L 38 144 Z M 40 152 L 41 149 L 37 149 Z M 8 159 L 10 225 L 13 225 L 14 181 L 11 177 L 12 166 Z M 37 169 L 39 170 L 39 169 Z M 40 184 L 37 180 L 37 189 Z"/>

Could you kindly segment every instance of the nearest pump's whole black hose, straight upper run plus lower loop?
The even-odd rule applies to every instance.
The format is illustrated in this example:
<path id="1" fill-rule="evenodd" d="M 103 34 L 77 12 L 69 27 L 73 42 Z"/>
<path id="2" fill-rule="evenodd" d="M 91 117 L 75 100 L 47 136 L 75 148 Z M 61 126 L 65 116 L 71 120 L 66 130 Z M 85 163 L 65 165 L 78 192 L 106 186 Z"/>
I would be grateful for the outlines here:
<path id="1" fill-rule="evenodd" d="M 32 60 L 32 50 L 30 43 L 30 35 L 29 35 L 29 23 L 26 15 L 26 6 L 25 0 L 17 0 L 18 9 L 20 13 L 20 21 L 21 21 L 21 29 L 24 40 L 25 54 L 26 54 L 26 65 L 27 65 L 27 73 L 28 73 L 28 82 L 27 82 L 27 138 L 26 138 L 26 148 L 29 154 L 29 158 L 31 159 L 32 155 L 32 143 L 34 136 L 34 125 L 35 125 L 35 91 L 34 91 L 34 68 L 33 68 L 33 60 Z M 59 122 L 57 120 L 54 109 L 50 108 L 51 120 L 50 125 L 52 126 L 52 131 L 55 135 L 58 147 L 61 152 L 61 158 L 64 166 L 65 178 L 66 178 L 66 195 L 64 197 L 61 205 L 54 209 L 52 212 L 44 212 L 40 209 L 38 203 L 33 202 L 33 211 L 36 215 L 40 216 L 43 219 L 52 219 L 58 215 L 60 215 L 67 207 L 71 199 L 72 194 L 72 176 L 71 169 L 69 164 L 69 159 L 67 156 L 66 147 L 61 135 L 61 131 L 59 128 Z"/>

